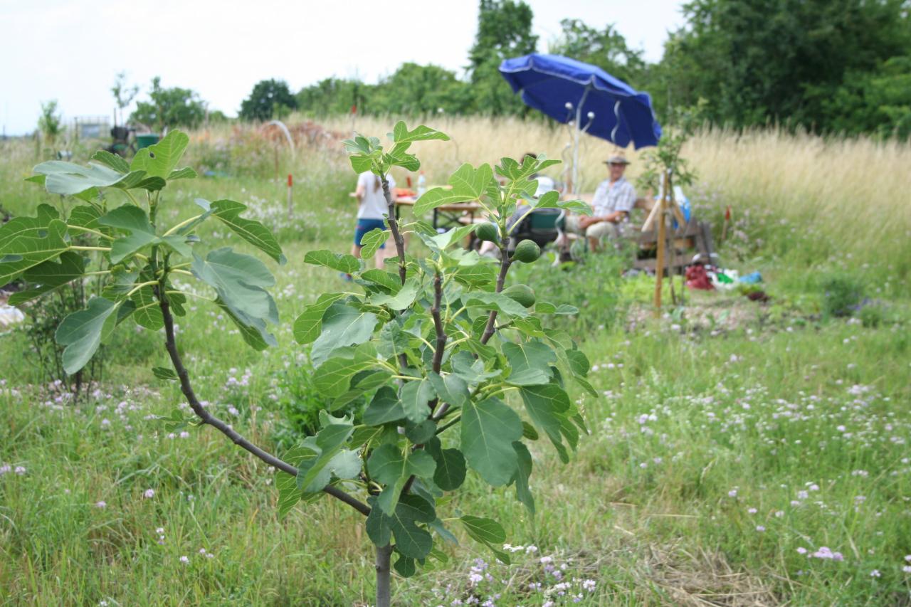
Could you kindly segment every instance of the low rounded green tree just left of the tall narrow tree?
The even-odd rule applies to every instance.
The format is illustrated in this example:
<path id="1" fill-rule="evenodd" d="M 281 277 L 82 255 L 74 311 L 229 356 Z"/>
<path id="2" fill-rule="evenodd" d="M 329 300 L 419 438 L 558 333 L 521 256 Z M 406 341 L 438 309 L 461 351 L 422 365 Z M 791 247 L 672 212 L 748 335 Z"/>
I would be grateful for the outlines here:
<path id="1" fill-rule="evenodd" d="M 455 73 L 438 66 L 404 63 L 374 88 L 372 113 L 419 116 L 442 109 L 465 114 L 472 107 L 472 91 Z"/>

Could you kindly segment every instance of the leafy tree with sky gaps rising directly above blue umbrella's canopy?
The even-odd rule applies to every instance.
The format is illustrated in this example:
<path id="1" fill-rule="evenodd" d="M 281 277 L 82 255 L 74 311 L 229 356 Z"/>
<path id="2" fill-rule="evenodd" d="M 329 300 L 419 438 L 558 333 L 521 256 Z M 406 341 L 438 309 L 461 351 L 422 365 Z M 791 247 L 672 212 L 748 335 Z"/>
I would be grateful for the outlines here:
<path id="1" fill-rule="evenodd" d="M 560 37 L 550 46 L 551 53 L 601 67 L 632 87 L 642 86 L 646 71 L 642 51 L 630 48 L 614 26 L 599 30 L 587 26 L 581 19 L 563 19 L 560 27 Z"/>

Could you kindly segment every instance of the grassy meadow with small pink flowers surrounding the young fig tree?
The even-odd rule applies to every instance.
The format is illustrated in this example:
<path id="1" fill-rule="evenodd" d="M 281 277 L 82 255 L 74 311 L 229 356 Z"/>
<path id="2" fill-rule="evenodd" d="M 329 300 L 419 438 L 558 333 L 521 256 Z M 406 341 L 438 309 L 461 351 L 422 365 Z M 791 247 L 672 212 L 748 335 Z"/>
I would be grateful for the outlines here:
<path id="1" fill-rule="evenodd" d="M 359 120 L 377 135 L 392 124 Z M 559 158 L 567 140 L 537 123 L 434 126 L 454 142 L 417 149 L 432 182 L 462 161 L 526 150 Z M 587 144 L 589 188 L 611 151 Z M 74 152 L 85 160 L 90 150 Z M 181 335 L 200 397 L 281 451 L 322 405 L 290 322 L 339 280 L 302 256 L 350 247 L 354 175 L 329 146 L 293 159 L 282 150 L 276 179 L 271 143 L 230 129 L 195 133 L 188 154 L 218 176 L 172 192 L 186 201 L 177 212 L 195 197 L 241 201 L 290 260 L 271 268 L 282 324 L 266 355 L 202 304 L 180 321 L 206 327 Z M 536 444 L 534 517 L 511 489 L 469 475 L 441 510 L 502 521 L 516 562 L 460 537 L 435 571 L 394 581 L 396 604 L 911 604 L 911 148 L 710 130 L 686 155 L 700 176 L 691 200 L 716 240 L 732 205 L 722 262 L 761 271 L 771 301 L 695 293 L 652 320 L 650 279 L 620 279 L 619 260 L 565 272 L 542 258 L 521 273 L 539 295 L 582 310 L 564 328 L 595 365 L 602 396 L 582 400 L 591 434 L 568 466 Z M 34 145 L 0 143 L 6 211 L 58 203 L 22 181 L 35 163 Z M 203 235 L 212 236 L 230 242 Z M 865 304 L 834 316 L 844 283 Z M 211 428 L 169 434 L 150 418 L 181 402 L 149 373 L 166 364 L 161 337 L 121 334 L 105 351 L 102 384 L 77 404 L 47 385 L 23 331 L 0 336 L 0 600 L 369 603 L 373 551 L 359 515 L 322 499 L 280 519 L 264 465 Z"/>

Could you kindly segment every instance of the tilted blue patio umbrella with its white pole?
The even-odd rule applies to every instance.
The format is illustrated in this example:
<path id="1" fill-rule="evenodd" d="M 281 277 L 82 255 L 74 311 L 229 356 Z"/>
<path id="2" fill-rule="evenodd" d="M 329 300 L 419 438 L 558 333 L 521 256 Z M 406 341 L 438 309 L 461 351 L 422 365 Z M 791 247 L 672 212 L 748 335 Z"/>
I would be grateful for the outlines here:
<path id="1" fill-rule="evenodd" d="M 573 184 L 578 172 L 578 137 L 589 133 L 621 148 L 653 146 L 661 127 L 648 93 L 588 63 L 559 55 L 532 53 L 506 59 L 500 74 L 530 108 L 559 122 L 574 121 Z"/>

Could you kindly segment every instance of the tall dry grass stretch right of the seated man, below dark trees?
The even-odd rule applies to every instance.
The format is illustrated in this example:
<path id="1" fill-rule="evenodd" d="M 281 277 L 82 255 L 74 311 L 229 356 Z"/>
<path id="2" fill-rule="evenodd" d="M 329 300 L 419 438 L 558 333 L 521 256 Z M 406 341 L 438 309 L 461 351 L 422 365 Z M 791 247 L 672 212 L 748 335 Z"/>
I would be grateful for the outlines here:
<path id="1" fill-rule="evenodd" d="M 882 247 L 911 237 L 911 146 L 778 129 L 706 129 L 685 150 L 701 180 L 834 241 Z M 864 247 L 866 248 L 866 247 Z"/>

